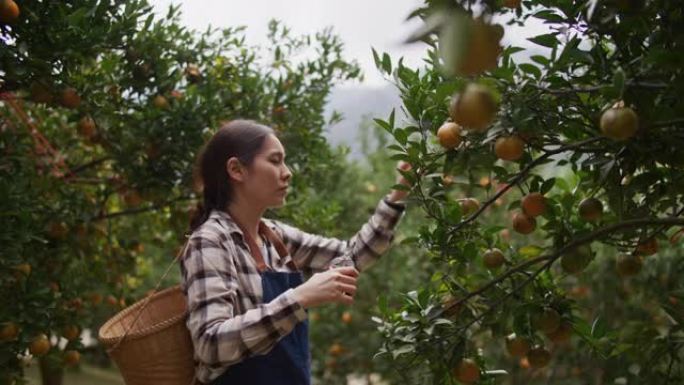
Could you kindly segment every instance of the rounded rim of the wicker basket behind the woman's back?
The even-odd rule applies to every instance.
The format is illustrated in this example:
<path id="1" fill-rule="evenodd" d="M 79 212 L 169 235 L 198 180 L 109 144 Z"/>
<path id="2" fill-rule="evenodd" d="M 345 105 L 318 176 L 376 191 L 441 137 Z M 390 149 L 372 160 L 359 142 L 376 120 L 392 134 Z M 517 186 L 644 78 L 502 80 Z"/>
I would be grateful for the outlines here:
<path id="1" fill-rule="evenodd" d="M 105 322 L 100 327 L 100 330 L 98 332 L 98 339 L 104 345 L 115 344 L 116 342 L 121 340 L 121 338 L 123 338 L 123 335 L 112 336 L 112 337 L 108 337 L 108 336 L 103 335 L 106 331 L 108 331 L 108 329 L 110 329 L 112 327 L 112 325 L 114 323 L 120 321 L 122 318 L 124 318 L 124 317 L 130 315 L 131 313 L 137 311 L 138 309 L 140 309 L 140 307 L 142 307 L 142 305 L 148 299 L 150 301 L 152 301 L 154 298 L 166 297 L 166 296 L 175 294 L 176 292 L 182 293 L 180 285 L 175 285 L 175 286 L 166 288 L 164 290 L 158 291 L 158 292 L 152 294 L 151 296 L 145 296 L 142 299 L 138 300 L 137 302 L 133 303 L 132 305 L 128 306 L 127 308 L 116 313 L 113 317 L 111 317 L 109 320 L 107 320 L 107 322 Z M 128 333 L 128 335 L 126 335 L 126 340 L 140 339 L 140 338 L 146 337 L 146 336 L 148 336 L 154 332 L 158 332 L 160 330 L 167 329 L 167 328 L 175 325 L 176 323 L 178 323 L 178 321 L 184 319 L 186 317 L 186 315 L 187 315 L 187 310 L 181 314 L 170 317 L 170 318 L 168 318 L 164 321 L 158 322 L 154 325 L 147 326 L 147 327 L 141 328 L 141 329 L 136 330 L 136 331 L 130 331 Z"/>

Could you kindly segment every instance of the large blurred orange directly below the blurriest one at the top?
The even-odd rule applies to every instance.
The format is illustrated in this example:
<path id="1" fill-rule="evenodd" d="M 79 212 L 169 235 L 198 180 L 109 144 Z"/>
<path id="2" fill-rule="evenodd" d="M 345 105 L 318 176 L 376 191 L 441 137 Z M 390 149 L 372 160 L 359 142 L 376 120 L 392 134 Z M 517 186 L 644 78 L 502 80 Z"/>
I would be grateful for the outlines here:
<path id="1" fill-rule="evenodd" d="M 456 94 L 449 105 L 451 119 L 474 132 L 485 132 L 494 120 L 498 105 L 486 87 L 468 84 L 463 92 Z"/>

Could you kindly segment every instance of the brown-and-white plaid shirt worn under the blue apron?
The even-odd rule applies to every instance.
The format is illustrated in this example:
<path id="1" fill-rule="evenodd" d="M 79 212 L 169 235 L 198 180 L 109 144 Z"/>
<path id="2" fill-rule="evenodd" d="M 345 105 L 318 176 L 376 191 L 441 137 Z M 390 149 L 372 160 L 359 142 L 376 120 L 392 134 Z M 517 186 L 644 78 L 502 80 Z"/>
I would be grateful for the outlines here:
<path id="1" fill-rule="evenodd" d="M 289 255 L 280 258 L 272 245 L 265 262 L 272 270 L 291 271 L 292 260 L 305 274 L 329 266 L 354 264 L 366 269 L 390 246 L 403 206 L 384 199 L 349 241 L 308 234 L 284 223 L 264 220 L 278 234 Z M 263 303 L 261 276 L 242 231 L 225 212 L 214 210 L 188 241 L 181 259 L 181 286 L 188 299 L 187 326 L 199 362 L 196 377 L 210 382 L 226 368 L 253 355 L 268 353 L 307 313 L 292 289 Z"/>

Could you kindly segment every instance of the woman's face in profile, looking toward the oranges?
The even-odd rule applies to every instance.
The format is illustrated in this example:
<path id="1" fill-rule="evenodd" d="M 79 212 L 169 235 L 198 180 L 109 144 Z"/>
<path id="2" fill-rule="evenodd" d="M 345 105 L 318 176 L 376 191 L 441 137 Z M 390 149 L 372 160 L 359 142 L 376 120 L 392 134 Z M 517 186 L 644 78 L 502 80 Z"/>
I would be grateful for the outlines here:
<path id="1" fill-rule="evenodd" d="M 243 180 L 245 197 L 258 207 L 279 207 L 285 203 L 292 172 L 285 165 L 285 149 L 275 135 L 264 139 L 261 150 L 247 168 Z"/>

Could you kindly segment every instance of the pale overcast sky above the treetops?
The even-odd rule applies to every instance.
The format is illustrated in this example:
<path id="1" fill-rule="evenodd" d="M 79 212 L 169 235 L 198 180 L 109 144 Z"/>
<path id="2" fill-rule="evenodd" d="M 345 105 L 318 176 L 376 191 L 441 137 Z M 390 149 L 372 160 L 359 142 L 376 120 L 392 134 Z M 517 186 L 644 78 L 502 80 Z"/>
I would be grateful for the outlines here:
<path id="1" fill-rule="evenodd" d="M 345 57 L 355 59 L 363 68 L 365 83 L 383 84 L 375 70 L 371 47 L 389 52 L 394 59 L 418 66 L 425 51 L 421 44 L 404 45 L 406 38 L 420 24 L 406 22 L 408 14 L 421 0 L 150 0 L 158 13 L 169 4 L 181 4 L 182 20 L 190 28 L 247 26 L 250 44 L 266 42 L 268 21 L 278 19 L 295 34 L 315 33 L 326 27 L 340 36 Z"/>

